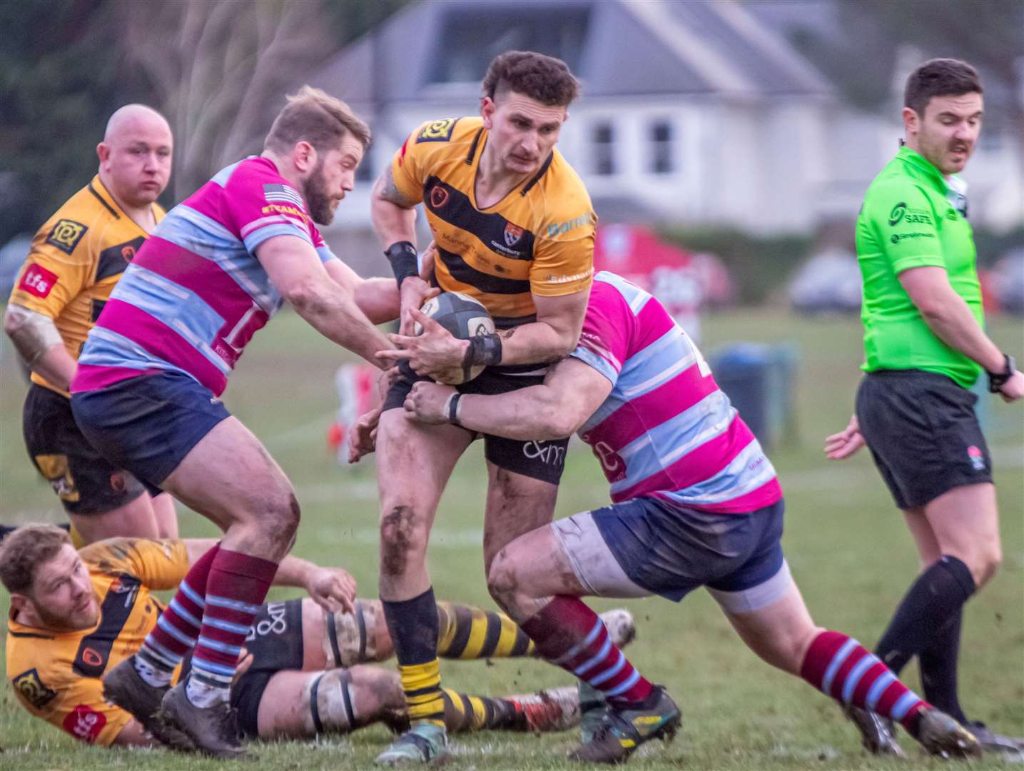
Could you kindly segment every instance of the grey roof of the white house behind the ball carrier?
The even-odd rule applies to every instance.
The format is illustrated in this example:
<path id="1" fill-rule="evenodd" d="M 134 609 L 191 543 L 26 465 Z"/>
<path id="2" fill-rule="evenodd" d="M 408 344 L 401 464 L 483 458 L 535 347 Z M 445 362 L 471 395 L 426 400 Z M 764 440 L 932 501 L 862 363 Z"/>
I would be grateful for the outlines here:
<path id="1" fill-rule="evenodd" d="M 831 94 L 781 35 L 736 0 L 421 0 L 311 78 L 353 104 L 478 93 L 510 48 L 564 58 L 587 96 Z"/>

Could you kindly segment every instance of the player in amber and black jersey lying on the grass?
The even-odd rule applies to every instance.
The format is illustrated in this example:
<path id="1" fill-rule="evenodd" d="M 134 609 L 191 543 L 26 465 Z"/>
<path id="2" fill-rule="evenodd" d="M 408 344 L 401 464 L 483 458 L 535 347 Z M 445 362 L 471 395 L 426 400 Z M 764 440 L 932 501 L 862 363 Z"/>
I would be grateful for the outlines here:
<path id="1" fill-rule="evenodd" d="M 212 545 L 111 539 L 76 552 L 56 527 L 19 528 L 0 548 L 0 580 L 11 593 L 7 672 L 25 708 L 88 742 L 155 743 L 146 730 L 152 718 L 136 719 L 105 702 L 100 678 L 159 623 L 162 608 L 150 592 L 176 586 Z M 257 613 L 246 641 L 249 660 L 231 688 L 243 733 L 307 738 L 377 721 L 408 728 L 397 673 L 361 666 L 394 652 L 380 601 L 353 600 L 355 583 L 344 570 L 295 557 L 282 562 L 275 583 L 303 587 L 310 599 L 271 602 Z M 627 611 L 602 617 L 621 643 L 632 639 Z M 444 657 L 535 654 L 529 639 L 501 613 L 441 602 L 438 624 L 437 652 Z M 563 730 L 579 714 L 573 687 L 508 698 L 444 691 L 450 731 Z M 188 748 L 187 742 L 177 748 Z"/>

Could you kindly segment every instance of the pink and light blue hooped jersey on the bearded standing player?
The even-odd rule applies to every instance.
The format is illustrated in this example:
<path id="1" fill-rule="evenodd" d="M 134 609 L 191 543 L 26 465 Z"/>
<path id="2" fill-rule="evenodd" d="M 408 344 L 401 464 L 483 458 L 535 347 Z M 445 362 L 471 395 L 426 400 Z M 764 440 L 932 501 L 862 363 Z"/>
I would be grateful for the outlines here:
<path id="1" fill-rule="evenodd" d="M 335 259 L 298 191 L 265 158 L 234 163 L 174 207 L 124 271 L 89 333 L 72 392 L 180 372 L 220 395 L 282 298 L 255 257 L 296 235 Z"/>

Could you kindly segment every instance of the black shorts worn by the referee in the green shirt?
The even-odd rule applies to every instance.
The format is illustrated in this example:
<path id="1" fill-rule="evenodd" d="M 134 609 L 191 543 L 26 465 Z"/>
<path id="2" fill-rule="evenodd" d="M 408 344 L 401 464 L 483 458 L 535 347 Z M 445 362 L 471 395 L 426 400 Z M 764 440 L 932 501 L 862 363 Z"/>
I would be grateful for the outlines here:
<path id="1" fill-rule="evenodd" d="M 946 376 L 923 370 L 880 370 L 861 380 L 860 433 L 898 508 L 915 509 L 954 487 L 992 481 L 977 400 Z"/>

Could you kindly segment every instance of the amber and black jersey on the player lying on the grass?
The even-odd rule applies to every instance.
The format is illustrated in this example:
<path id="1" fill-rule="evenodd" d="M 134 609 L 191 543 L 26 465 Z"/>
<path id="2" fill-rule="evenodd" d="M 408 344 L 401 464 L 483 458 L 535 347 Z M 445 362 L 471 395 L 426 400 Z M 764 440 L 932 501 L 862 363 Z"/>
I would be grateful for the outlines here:
<path id="1" fill-rule="evenodd" d="M 99 600 L 99 622 L 51 632 L 7 622 L 7 677 L 26 710 L 83 741 L 113 743 L 132 717 L 103 700 L 103 673 L 142 645 L 163 610 L 151 590 L 188 571 L 183 541 L 110 539 L 79 551 Z M 177 678 L 178 673 L 174 677 Z"/>

